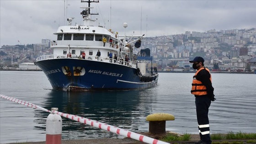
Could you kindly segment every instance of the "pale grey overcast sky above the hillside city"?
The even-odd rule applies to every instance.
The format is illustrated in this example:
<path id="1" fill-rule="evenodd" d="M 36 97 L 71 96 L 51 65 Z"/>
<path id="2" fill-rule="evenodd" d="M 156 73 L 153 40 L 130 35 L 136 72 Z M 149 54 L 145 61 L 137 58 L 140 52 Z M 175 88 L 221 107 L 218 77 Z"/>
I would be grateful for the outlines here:
<path id="1" fill-rule="evenodd" d="M 53 33 L 66 18 L 83 24 L 85 6 L 80 0 L 0 0 L 0 46 L 56 40 Z M 124 22 L 126 34 L 147 37 L 256 28 L 256 0 L 100 0 L 91 6 L 97 23 L 119 34 Z"/>

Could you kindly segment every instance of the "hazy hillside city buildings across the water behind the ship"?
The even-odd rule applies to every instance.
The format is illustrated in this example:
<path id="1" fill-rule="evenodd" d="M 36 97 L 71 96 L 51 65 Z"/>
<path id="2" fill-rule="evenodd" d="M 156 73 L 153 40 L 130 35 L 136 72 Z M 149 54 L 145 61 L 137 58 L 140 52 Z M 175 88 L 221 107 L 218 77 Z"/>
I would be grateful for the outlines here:
<path id="1" fill-rule="evenodd" d="M 52 54 L 55 41 L 42 39 L 42 43 L 3 45 L 0 48 L 0 68 L 18 67 L 34 63 L 36 58 Z M 196 56 L 205 59 L 205 66 L 212 71 L 253 71 L 256 69 L 256 28 L 207 32 L 185 32 L 159 37 L 144 37 L 141 48 L 149 48 L 154 66 L 164 71 L 192 70 L 188 61 Z M 24 65 L 24 64 L 23 64 Z"/>

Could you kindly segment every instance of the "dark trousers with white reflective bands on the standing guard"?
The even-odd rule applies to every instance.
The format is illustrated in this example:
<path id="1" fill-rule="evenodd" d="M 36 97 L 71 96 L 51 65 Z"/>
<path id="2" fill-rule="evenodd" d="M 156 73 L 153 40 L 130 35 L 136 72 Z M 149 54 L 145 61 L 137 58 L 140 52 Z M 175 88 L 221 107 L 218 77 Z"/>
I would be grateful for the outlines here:
<path id="1" fill-rule="evenodd" d="M 200 139 L 206 143 L 211 144 L 210 126 L 208 119 L 209 107 L 211 105 L 211 99 L 208 96 L 196 97 L 196 110 L 197 110 L 197 123 L 200 134 Z"/>

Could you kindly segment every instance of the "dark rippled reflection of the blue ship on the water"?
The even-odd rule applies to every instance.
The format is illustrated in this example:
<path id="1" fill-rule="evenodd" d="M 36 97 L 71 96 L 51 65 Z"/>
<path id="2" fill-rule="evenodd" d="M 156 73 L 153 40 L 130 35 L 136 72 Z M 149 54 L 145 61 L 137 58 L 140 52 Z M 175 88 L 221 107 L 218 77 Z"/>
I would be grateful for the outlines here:
<path id="1" fill-rule="evenodd" d="M 149 110 L 152 101 L 154 101 L 152 95 L 147 95 L 148 92 L 150 91 L 99 91 L 83 93 L 50 91 L 42 107 L 46 109 L 58 107 L 59 112 L 74 114 L 119 128 L 137 131 L 138 125 L 141 124 L 137 120 L 141 119 L 140 117 L 146 117 L 150 113 L 141 112 L 141 110 Z M 48 114 L 48 112 L 35 111 L 36 118 L 34 121 L 42 124 L 41 126 L 35 126 L 35 129 L 45 130 L 45 121 Z M 117 135 L 99 128 L 93 128 L 64 117 L 62 119 L 63 139 L 117 137 Z"/>

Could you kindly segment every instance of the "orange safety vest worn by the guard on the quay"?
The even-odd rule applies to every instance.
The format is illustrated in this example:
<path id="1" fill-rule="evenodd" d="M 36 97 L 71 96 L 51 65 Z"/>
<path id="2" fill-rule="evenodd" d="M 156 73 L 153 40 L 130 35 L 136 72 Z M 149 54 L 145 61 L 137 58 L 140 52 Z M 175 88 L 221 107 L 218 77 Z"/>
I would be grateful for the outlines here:
<path id="1" fill-rule="evenodd" d="M 197 74 L 202 69 L 205 69 L 205 70 L 207 70 L 210 73 L 210 70 L 205 68 L 205 67 L 197 70 L 196 74 L 193 76 L 192 89 L 191 89 L 191 94 L 192 95 L 197 95 L 197 96 L 207 95 L 206 87 L 202 84 L 202 82 L 200 80 L 196 79 Z M 211 75 L 211 73 L 210 73 L 210 80 L 212 82 L 212 75 Z"/>

